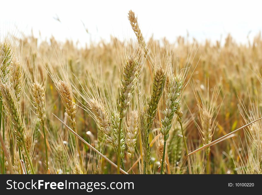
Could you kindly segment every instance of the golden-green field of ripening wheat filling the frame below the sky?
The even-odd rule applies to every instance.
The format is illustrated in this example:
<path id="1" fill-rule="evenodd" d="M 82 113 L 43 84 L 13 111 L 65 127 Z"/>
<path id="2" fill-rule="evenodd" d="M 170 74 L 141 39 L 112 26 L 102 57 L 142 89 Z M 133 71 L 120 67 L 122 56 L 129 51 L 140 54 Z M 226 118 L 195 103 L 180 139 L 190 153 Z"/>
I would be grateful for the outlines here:
<path id="1" fill-rule="evenodd" d="M 0 36 L 1 174 L 262 173 L 261 34 L 146 41 L 138 20 L 86 47 Z"/>

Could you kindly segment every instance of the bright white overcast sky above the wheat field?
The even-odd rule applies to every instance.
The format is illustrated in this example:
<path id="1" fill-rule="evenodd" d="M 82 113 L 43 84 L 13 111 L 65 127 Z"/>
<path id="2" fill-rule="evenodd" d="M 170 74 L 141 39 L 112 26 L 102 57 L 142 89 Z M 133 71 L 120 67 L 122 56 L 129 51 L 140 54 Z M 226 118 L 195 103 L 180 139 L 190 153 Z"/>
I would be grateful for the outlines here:
<path id="1" fill-rule="evenodd" d="M 166 37 L 175 41 L 179 35 L 214 41 L 230 33 L 235 40 L 247 42 L 262 30 L 261 1 L 12 1 L 0 2 L 0 32 L 17 32 L 58 40 L 70 38 L 81 45 L 92 40 L 135 38 L 127 19 L 128 10 L 138 15 L 142 33 L 147 38 Z M 61 23 L 56 21 L 56 15 Z M 89 34 L 85 32 L 85 24 Z M 0 35 L 1 36 L 1 35 Z"/>

